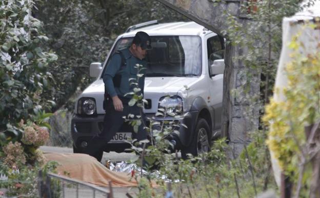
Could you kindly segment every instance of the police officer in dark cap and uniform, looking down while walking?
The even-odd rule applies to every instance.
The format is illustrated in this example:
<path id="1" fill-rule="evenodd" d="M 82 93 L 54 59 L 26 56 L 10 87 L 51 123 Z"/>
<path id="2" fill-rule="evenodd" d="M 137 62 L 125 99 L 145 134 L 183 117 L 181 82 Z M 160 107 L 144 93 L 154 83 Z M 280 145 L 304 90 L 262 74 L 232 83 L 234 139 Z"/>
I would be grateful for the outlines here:
<path id="1" fill-rule="evenodd" d="M 146 67 L 147 50 L 151 48 L 149 35 L 146 32 L 139 31 L 135 34 L 131 46 L 116 51 L 106 67 L 103 76 L 105 83 L 104 109 L 106 111 L 103 131 L 91 139 L 87 148 L 87 153 L 98 161 L 102 159 L 104 147 L 124 123 L 123 116 L 128 116 L 128 114 L 141 115 L 141 107 L 128 105 L 132 96 L 126 94 L 133 92 L 129 79 L 137 77 L 138 70 L 135 65 L 139 64 Z M 140 73 L 144 74 L 143 72 Z M 145 77 L 143 76 L 139 78 L 138 82 L 142 94 L 144 85 Z M 145 119 L 144 115 L 142 116 Z M 135 134 L 134 138 L 137 140 L 147 139 L 147 132 L 143 128 L 143 124 L 139 126 L 138 133 Z"/>

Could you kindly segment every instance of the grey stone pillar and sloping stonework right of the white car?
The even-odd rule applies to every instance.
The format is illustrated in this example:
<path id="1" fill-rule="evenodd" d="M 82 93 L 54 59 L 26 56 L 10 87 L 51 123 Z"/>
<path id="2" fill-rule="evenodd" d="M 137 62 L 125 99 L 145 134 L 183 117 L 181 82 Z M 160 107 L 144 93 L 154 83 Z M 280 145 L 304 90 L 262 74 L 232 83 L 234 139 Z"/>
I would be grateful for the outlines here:
<path id="1" fill-rule="evenodd" d="M 187 16 L 190 20 L 221 34 L 227 30 L 227 17 L 224 12 L 235 16 L 238 23 L 247 26 L 249 19 L 246 13 L 241 13 L 244 0 L 222 0 L 219 2 L 208 0 L 157 0 L 167 7 Z M 228 38 L 226 38 L 228 39 Z M 244 143 L 250 142 L 248 133 L 258 129 L 257 107 L 252 107 L 251 99 L 259 95 L 259 73 L 246 68 L 241 60 L 233 59 L 246 55 L 247 50 L 241 46 L 226 44 L 224 96 L 222 113 L 222 134 L 229 140 L 233 154 L 238 156 L 244 148 Z M 232 91 L 241 89 L 246 83 L 247 73 L 250 73 L 251 86 L 248 93 L 232 94 Z"/>

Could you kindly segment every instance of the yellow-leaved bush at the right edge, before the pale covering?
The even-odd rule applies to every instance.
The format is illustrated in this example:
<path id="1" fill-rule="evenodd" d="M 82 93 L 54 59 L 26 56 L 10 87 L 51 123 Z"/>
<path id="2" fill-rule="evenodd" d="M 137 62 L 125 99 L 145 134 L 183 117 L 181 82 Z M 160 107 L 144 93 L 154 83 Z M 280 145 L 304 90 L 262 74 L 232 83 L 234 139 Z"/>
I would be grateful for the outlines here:
<path id="1" fill-rule="evenodd" d="M 316 24 L 305 25 L 315 27 Z M 290 43 L 294 58 L 285 68 L 288 85 L 275 91 L 285 101 L 271 100 L 264 120 L 270 125 L 268 146 L 295 185 L 295 196 L 315 197 L 313 190 L 319 185 L 319 166 L 315 161 L 319 155 L 316 144 L 320 129 L 320 50 L 303 55 L 301 50 L 306 47 L 300 37 L 298 32 Z"/>

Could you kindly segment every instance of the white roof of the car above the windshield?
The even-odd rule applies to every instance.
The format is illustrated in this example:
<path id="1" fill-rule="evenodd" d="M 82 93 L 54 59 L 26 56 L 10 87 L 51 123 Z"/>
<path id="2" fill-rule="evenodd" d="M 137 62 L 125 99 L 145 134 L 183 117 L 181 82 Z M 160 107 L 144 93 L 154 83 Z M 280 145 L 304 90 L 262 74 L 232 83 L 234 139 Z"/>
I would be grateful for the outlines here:
<path id="1" fill-rule="evenodd" d="M 126 32 L 119 37 L 134 37 L 138 31 L 144 31 L 150 36 L 154 35 L 201 35 L 205 31 L 205 34 L 211 33 L 212 31 L 206 29 L 204 26 L 199 25 L 195 22 L 173 22 L 173 23 L 162 23 L 156 25 L 150 25 L 134 29 L 133 31 Z"/>

